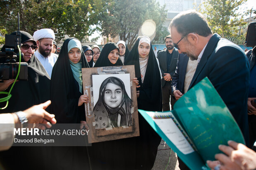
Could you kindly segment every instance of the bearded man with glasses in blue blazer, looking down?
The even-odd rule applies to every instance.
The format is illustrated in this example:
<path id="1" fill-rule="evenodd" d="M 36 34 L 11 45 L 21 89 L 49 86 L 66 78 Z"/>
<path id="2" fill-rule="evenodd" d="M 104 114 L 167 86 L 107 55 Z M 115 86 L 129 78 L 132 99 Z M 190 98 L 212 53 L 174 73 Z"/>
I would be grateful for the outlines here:
<path id="1" fill-rule="evenodd" d="M 169 29 L 179 52 L 198 62 L 188 89 L 208 77 L 237 121 L 248 145 L 249 63 L 242 49 L 213 34 L 205 17 L 194 10 L 175 16 Z"/>

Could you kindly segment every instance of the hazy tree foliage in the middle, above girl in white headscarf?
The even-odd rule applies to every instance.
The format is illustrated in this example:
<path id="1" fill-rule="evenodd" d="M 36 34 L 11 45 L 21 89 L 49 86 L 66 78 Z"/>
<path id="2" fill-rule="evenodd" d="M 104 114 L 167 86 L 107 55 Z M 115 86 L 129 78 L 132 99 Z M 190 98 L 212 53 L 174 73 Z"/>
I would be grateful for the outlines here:
<path id="1" fill-rule="evenodd" d="M 102 22 L 102 35 L 117 35 L 128 41 L 131 48 L 135 43 L 142 23 L 152 19 L 156 23 L 155 39 L 164 33 L 162 24 L 166 19 L 165 7 L 160 7 L 155 0 L 112 0 L 109 3 L 108 15 Z"/>

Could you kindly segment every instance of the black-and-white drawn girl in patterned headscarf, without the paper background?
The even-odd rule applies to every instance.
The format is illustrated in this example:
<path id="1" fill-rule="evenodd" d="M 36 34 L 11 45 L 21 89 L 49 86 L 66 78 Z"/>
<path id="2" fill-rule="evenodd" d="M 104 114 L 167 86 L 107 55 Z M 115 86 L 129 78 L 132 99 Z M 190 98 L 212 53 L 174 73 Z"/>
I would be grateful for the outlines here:
<path id="1" fill-rule="evenodd" d="M 132 100 L 123 81 L 108 77 L 100 86 L 99 99 L 93 109 L 95 128 L 132 126 L 131 107 Z"/>

